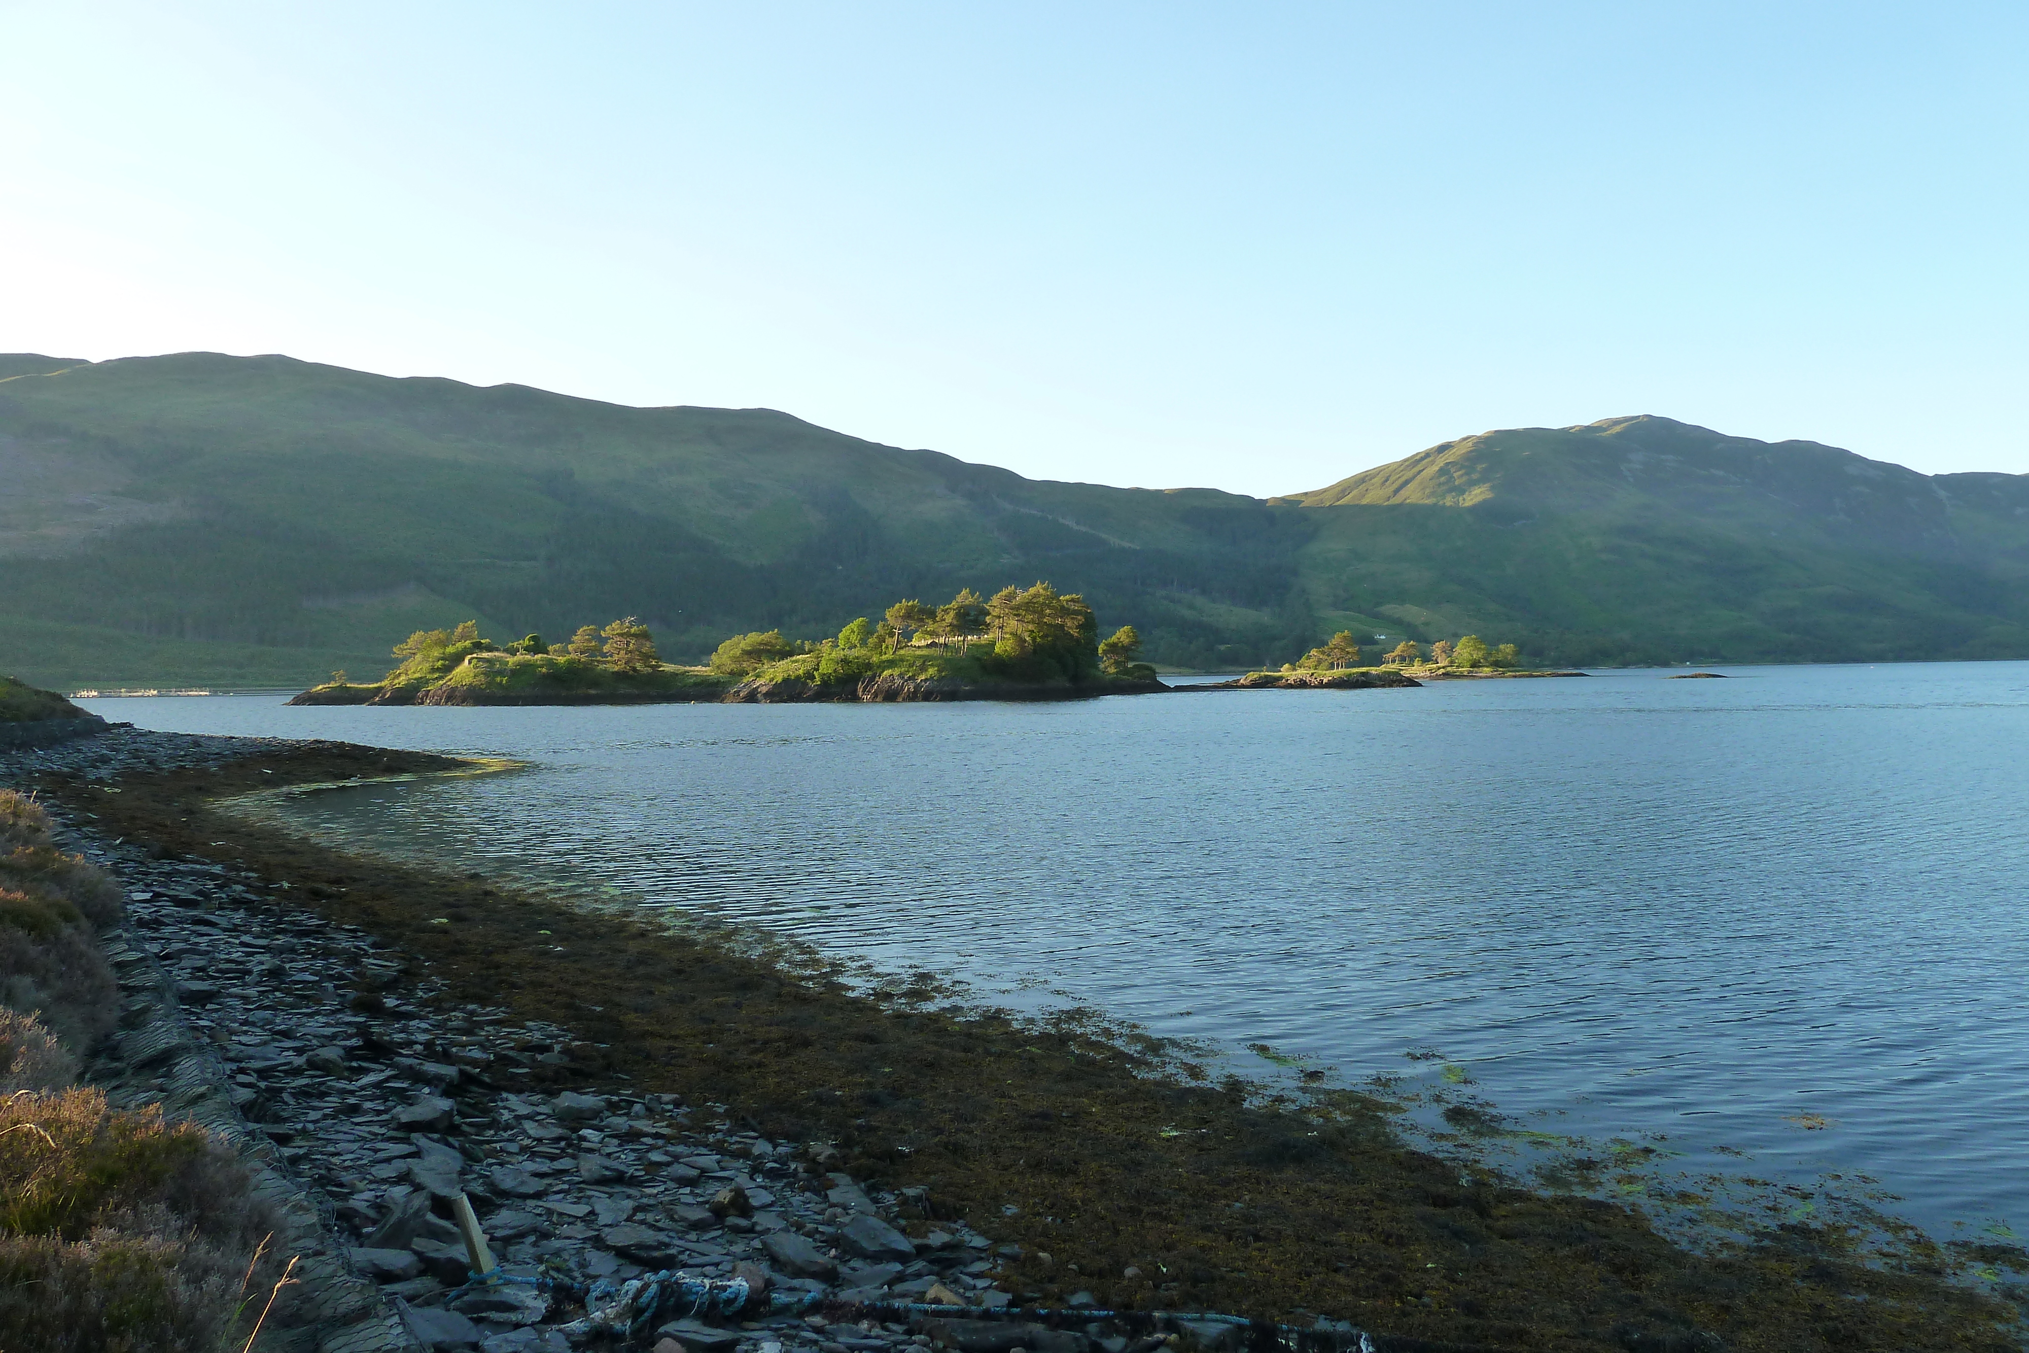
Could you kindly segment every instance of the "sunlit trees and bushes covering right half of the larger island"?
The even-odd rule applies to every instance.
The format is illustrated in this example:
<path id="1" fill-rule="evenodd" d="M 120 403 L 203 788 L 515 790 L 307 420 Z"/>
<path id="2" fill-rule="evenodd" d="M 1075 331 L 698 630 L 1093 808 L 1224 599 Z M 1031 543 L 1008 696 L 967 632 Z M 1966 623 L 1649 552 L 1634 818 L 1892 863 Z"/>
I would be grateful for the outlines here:
<path id="1" fill-rule="evenodd" d="M 1120 675 L 1140 657 L 1140 635 L 1132 625 L 1122 625 L 1100 643 L 1098 621 L 1083 596 L 1037 582 L 1000 588 L 992 598 L 964 588 L 941 607 L 899 600 L 879 625 L 858 617 L 836 639 L 820 643 L 783 639 L 779 629 L 734 635 L 718 645 L 710 665 L 720 675 L 743 678 L 797 653 L 895 655 L 905 647 L 935 647 L 968 655 L 984 645 L 1002 663 L 1049 665 L 1071 680 L 1094 671 Z"/>

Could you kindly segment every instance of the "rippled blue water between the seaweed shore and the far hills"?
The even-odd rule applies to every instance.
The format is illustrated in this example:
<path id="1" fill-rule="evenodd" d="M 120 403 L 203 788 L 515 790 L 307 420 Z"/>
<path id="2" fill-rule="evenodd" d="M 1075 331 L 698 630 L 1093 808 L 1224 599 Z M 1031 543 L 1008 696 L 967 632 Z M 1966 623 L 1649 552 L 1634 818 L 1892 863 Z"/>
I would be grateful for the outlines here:
<path id="1" fill-rule="evenodd" d="M 1861 1170 L 1928 1225 L 2029 1221 L 2029 663 L 1729 671 L 1045 706 L 91 704 L 534 763 L 296 809 L 349 840 L 1349 1075 L 1441 1051 L 1534 1128 Z"/>

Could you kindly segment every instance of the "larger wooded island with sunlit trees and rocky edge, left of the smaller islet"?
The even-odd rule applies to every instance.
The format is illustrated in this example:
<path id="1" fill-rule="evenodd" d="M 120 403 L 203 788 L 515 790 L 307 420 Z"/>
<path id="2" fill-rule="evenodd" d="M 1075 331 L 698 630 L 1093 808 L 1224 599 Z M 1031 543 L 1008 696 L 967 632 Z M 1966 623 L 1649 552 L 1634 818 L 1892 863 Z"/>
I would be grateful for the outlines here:
<path id="1" fill-rule="evenodd" d="M 290 704 L 728 704 L 860 700 L 1081 700 L 1163 692 L 1136 661 L 1132 625 L 1104 643 L 1092 607 L 1047 582 L 972 588 L 941 607 L 899 600 L 879 625 L 860 617 L 834 639 L 734 635 L 698 667 L 666 663 L 637 619 L 586 625 L 570 643 L 542 635 L 495 645 L 479 625 L 432 629 L 396 645 L 379 682 L 333 680 Z"/>

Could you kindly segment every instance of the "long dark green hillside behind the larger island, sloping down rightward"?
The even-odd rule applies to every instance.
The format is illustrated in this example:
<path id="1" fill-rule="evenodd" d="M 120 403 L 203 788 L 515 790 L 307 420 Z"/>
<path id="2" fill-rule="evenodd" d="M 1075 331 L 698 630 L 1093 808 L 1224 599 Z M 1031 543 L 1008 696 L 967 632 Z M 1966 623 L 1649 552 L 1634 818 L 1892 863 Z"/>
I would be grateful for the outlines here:
<path id="1" fill-rule="evenodd" d="M 375 671 L 481 615 L 570 633 L 631 613 L 672 657 L 832 633 L 895 596 L 1073 580 L 1159 657 L 1262 661 L 1305 513 L 1213 491 L 1033 483 L 769 410 L 635 410 L 286 357 L 0 359 L 6 623 L 53 684 L 160 680 L 106 635 Z M 444 600 L 450 598 L 450 600 Z M 422 611 L 428 611 L 424 617 Z M 400 615 L 398 615 L 400 613 Z"/>

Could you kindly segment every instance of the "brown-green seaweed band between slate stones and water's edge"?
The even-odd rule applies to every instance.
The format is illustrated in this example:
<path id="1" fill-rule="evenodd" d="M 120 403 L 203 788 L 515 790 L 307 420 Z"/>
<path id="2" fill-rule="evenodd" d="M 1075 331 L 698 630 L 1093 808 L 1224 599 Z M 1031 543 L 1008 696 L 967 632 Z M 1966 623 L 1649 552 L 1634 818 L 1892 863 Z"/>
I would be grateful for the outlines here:
<path id="1" fill-rule="evenodd" d="M 215 807 L 448 765 L 321 744 L 134 775 L 118 795 L 51 789 L 106 832 L 290 880 L 414 955 L 410 978 L 448 982 L 436 1000 L 570 1028 L 574 1065 L 542 1069 L 552 1087 L 726 1103 L 763 1132 L 836 1140 L 856 1177 L 927 1187 L 935 1217 L 1027 1248 L 1019 1280 L 1039 1300 L 1090 1288 L 1102 1306 L 1309 1310 L 1376 1331 L 1382 1353 L 2015 1347 L 2013 1310 L 1944 1282 L 1921 1245 L 1871 1268 L 1846 1229 L 1786 1223 L 1692 1254 L 1625 1207 L 1406 1148 L 1357 1095 L 1264 1099 L 1132 1035 L 964 1016 L 927 974 L 868 998 L 795 953 L 345 856 Z"/>

